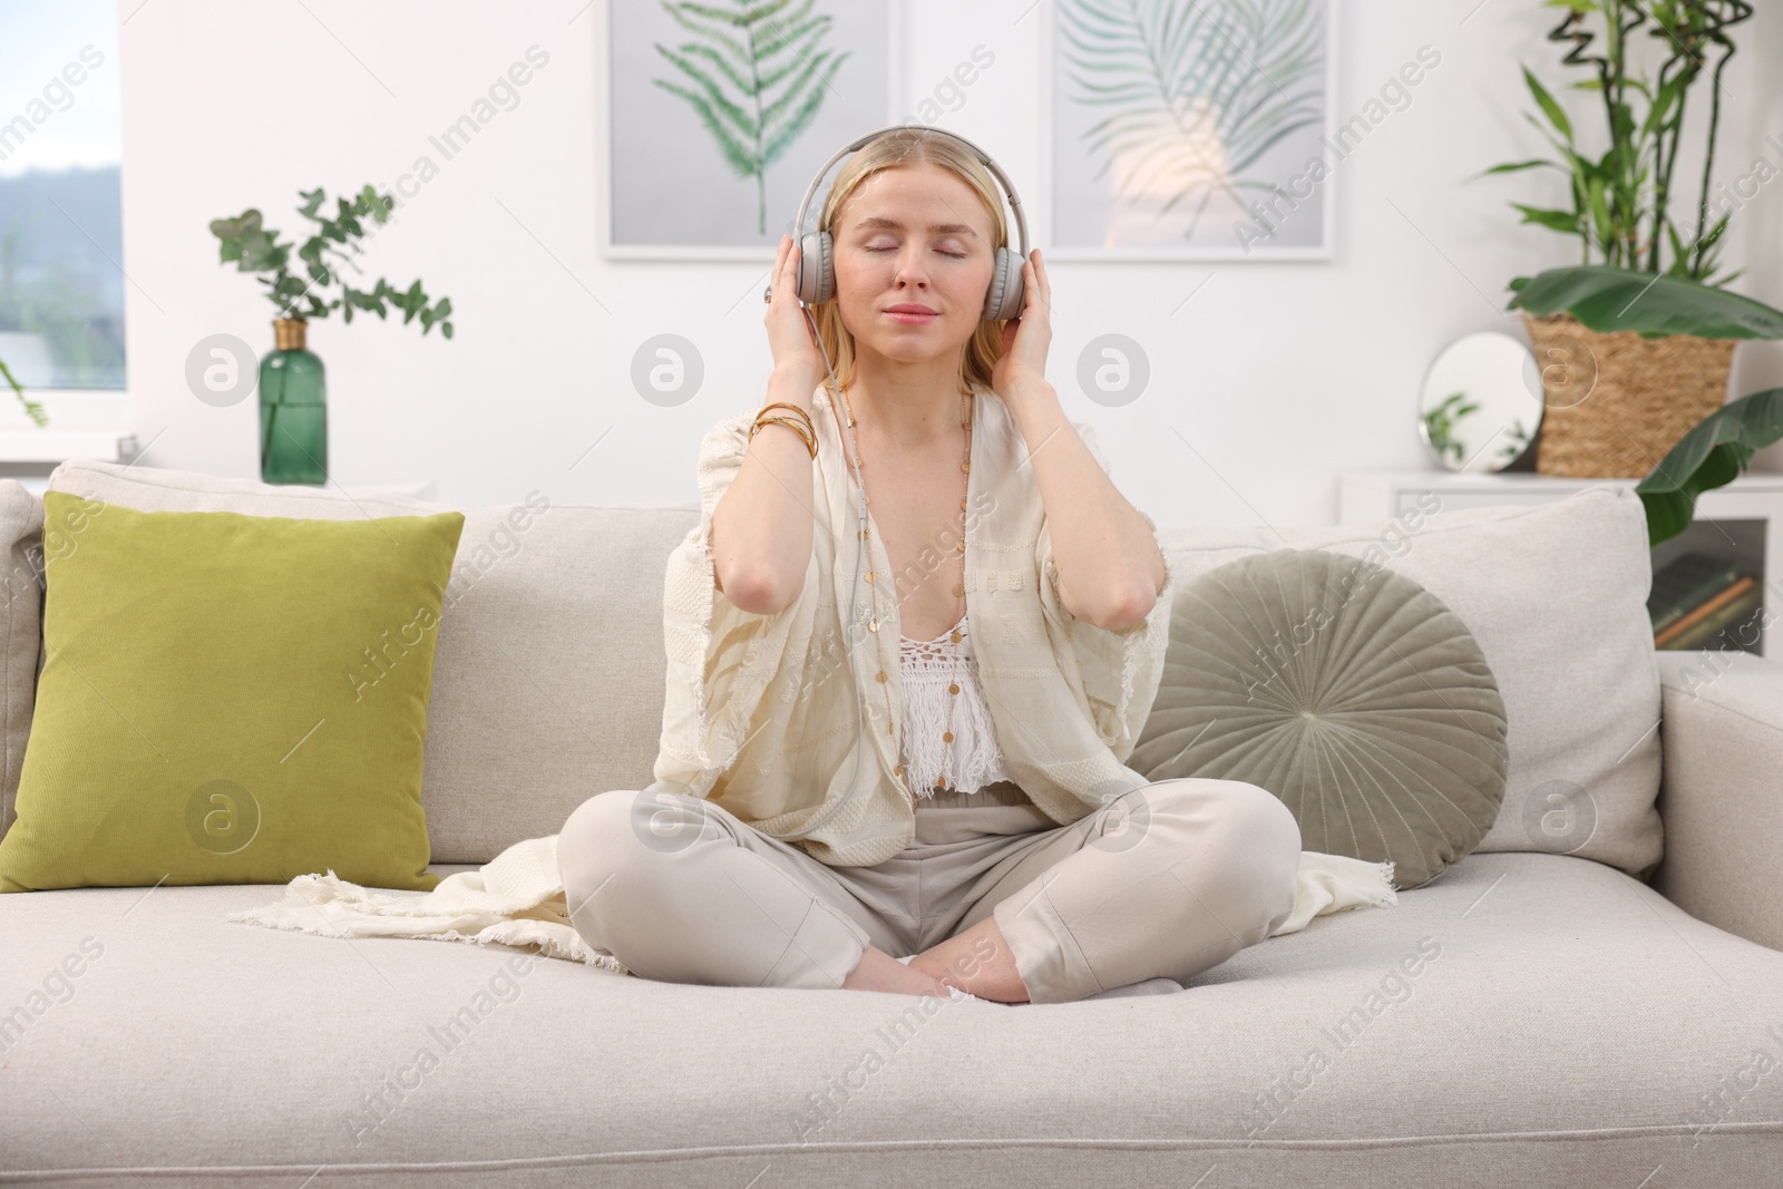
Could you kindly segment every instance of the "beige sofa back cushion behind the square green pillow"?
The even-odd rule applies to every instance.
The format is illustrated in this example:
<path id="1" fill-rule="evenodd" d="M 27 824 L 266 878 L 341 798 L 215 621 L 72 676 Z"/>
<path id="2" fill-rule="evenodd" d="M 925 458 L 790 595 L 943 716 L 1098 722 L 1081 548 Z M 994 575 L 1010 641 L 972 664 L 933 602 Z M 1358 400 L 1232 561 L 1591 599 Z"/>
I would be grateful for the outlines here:
<path id="1" fill-rule="evenodd" d="M 146 512 L 362 519 L 453 508 L 91 460 L 59 465 L 50 488 Z M 699 510 L 569 506 L 533 490 L 464 517 L 421 781 L 437 863 L 487 863 L 556 834 L 596 793 L 651 783 L 663 572 Z"/>

